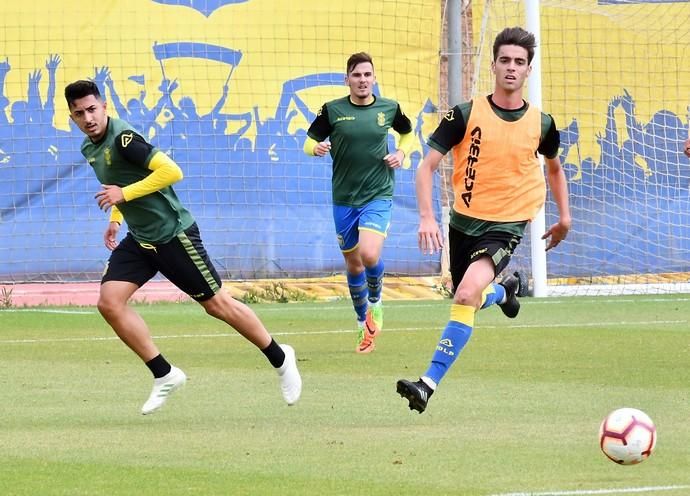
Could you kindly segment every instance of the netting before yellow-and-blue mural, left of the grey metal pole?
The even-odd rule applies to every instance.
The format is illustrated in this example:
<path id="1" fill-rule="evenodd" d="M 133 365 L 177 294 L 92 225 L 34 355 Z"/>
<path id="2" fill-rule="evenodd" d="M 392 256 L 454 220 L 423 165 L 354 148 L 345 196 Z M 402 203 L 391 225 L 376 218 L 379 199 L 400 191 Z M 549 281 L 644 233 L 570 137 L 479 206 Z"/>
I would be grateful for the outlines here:
<path id="1" fill-rule="evenodd" d="M 437 122 L 438 1 L 101 0 L 78 18 L 83 10 L 81 0 L 0 5 L 0 283 L 98 280 L 108 259 L 108 214 L 62 96 L 86 78 L 111 116 L 180 165 L 175 190 L 223 278 L 342 272 L 331 160 L 302 145 L 321 105 L 348 94 L 345 63 L 360 51 L 373 57 L 374 93 L 400 103 L 416 137 L 412 167 L 396 173 L 386 271 L 439 272 L 439 257 L 417 249 L 414 193 Z"/>

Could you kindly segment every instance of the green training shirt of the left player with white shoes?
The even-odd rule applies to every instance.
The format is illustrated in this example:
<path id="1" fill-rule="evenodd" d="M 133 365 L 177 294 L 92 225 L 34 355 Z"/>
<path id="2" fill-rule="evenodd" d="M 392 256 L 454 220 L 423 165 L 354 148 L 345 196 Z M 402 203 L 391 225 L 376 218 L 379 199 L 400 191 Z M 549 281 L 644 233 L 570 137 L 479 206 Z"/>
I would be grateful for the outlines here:
<path id="1" fill-rule="evenodd" d="M 121 119 L 108 118 L 105 136 L 98 143 L 84 139 L 81 153 L 93 167 L 101 184 L 121 188 L 151 174 L 151 157 L 158 149 L 150 145 Z M 129 232 L 139 243 L 161 244 L 194 223 L 171 186 L 117 205 Z"/>

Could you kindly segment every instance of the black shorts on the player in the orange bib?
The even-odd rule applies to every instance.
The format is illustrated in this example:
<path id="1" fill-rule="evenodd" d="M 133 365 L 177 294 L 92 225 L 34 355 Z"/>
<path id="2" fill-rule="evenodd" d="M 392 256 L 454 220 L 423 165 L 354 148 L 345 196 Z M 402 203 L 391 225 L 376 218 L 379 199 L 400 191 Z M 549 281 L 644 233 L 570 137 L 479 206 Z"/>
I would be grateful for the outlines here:
<path id="1" fill-rule="evenodd" d="M 489 231 L 479 236 L 469 236 L 449 226 L 448 244 L 453 292 L 470 264 L 481 257 L 491 258 L 494 263 L 494 274 L 500 274 L 508 266 L 510 257 L 521 239 L 521 236 L 503 231 Z"/>

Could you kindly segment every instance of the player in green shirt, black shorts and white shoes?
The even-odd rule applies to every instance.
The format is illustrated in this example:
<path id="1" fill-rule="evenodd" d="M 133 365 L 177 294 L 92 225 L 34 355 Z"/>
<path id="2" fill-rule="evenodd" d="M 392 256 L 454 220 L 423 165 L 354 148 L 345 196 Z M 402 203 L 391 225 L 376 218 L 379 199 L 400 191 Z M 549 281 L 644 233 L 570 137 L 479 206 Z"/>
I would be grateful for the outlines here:
<path id="1" fill-rule="evenodd" d="M 98 310 L 154 377 L 141 413 L 158 410 L 187 379 L 163 357 L 144 320 L 127 305 L 158 272 L 258 347 L 276 368 L 285 401 L 297 402 L 302 379 L 295 351 L 278 345 L 249 307 L 222 290 L 196 222 L 172 189 L 182 179 L 180 167 L 125 121 L 108 117 L 94 82 L 67 85 L 65 99 L 70 117 L 86 135 L 81 152 L 102 185 L 95 195 L 98 206 L 110 209 L 103 241 L 112 254 L 101 280 Z M 123 220 L 129 232 L 118 243 Z"/>

